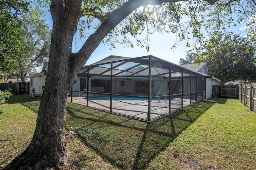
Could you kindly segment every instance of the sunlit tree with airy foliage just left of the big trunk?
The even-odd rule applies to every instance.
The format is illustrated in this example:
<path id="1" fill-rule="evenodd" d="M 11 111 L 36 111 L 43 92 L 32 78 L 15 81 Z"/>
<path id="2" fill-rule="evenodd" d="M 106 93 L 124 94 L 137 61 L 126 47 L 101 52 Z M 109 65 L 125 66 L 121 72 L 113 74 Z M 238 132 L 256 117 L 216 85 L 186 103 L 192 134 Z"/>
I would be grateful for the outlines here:
<path id="1" fill-rule="evenodd" d="M 8 3 L 5 2 L 2 4 Z M 10 12 L 12 12 L 11 9 L 14 7 L 6 5 L 6 8 L 9 10 L 5 15 L 10 14 Z M 22 83 L 25 82 L 27 73 L 31 74 L 36 72 L 35 67 L 41 66 L 44 59 L 48 59 L 50 51 L 50 28 L 45 23 L 45 19 L 43 17 L 45 12 L 40 8 L 37 8 L 35 4 L 27 4 L 27 8 L 27 11 L 22 12 L 15 18 L 19 21 L 17 24 L 21 32 L 20 35 L 17 36 L 17 42 L 22 44 L 15 45 L 7 42 L 9 46 L 20 47 L 20 50 L 17 52 L 18 57 L 11 60 L 13 64 L 10 69 L 5 69 L 6 67 L 3 67 L 2 69 L 2 72 L 6 74 L 20 77 Z M 0 33 L 1 32 L 2 30 L 0 30 Z M 8 40 L 8 38 L 6 39 Z M 4 42 L 2 43 L 4 44 Z M 6 55 L 13 56 L 13 50 L 10 49 L 9 46 L 6 47 L 4 51 L 6 51 Z M 7 57 L 5 58 L 7 59 Z"/>

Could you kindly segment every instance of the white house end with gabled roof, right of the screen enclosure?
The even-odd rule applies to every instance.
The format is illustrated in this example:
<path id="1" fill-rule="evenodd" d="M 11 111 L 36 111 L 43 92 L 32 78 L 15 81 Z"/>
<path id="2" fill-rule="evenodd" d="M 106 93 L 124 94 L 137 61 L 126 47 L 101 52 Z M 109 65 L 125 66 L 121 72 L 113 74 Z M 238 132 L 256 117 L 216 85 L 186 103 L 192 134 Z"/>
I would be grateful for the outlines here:
<path id="1" fill-rule="evenodd" d="M 211 98 L 212 95 L 212 85 L 218 85 L 218 82 L 221 81 L 220 79 L 217 79 L 216 77 L 213 77 L 211 75 L 208 75 L 208 67 L 207 63 L 194 63 L 194 64 L 184 64 L 180 65 L 186 69 L 189 69 L 191 71 L 199 72 L 206 78 L 206 90 L 205 90 L 205 98 Z"/>

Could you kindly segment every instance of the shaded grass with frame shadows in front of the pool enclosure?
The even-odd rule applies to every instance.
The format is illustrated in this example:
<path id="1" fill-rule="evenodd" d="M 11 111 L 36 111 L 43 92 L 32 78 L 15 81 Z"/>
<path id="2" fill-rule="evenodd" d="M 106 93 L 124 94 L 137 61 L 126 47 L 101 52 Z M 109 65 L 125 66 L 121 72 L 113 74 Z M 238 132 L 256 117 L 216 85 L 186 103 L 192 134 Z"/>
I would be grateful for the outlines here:
<path id="1" fill-rule="evenodd" d="M 102 158 L 118 168 L 145 169 L 148 163 L 214 103 L 200 102 L 153 123 L 80 106 L 67 108 L 68 127 Z M 81 156 L 81 162 L 86 158 Z"/>

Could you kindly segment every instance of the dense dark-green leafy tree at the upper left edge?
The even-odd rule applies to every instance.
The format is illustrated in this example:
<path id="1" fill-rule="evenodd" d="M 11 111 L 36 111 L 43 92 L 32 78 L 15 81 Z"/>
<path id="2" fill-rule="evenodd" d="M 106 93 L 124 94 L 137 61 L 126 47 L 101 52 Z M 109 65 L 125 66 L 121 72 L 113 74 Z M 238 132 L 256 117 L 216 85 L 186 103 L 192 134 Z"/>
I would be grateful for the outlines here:
<path id="1" fill-rule="evenodd" d="M 24 51 L 22 21 L 19 16 L 28 11 L 28 2 L 0 2 L 0 71 L 10 72 Z"/>

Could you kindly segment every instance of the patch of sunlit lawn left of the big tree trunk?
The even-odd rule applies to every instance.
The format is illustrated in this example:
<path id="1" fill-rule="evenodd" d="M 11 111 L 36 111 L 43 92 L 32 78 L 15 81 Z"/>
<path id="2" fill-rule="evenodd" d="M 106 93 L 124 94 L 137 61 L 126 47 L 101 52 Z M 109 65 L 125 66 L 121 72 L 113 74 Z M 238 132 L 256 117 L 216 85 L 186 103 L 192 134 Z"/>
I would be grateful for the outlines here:
<path id="1" fill-rule="evenodd" d="M 15 98 L 16 96 L 9 101 L 15 101 Z M 0 168 L 28 146 L 37 118 L 36 113 L 20 103 L 8 103 L 1 107 L 4 113 L 0 115 Z"/>

